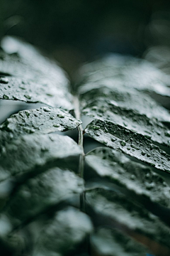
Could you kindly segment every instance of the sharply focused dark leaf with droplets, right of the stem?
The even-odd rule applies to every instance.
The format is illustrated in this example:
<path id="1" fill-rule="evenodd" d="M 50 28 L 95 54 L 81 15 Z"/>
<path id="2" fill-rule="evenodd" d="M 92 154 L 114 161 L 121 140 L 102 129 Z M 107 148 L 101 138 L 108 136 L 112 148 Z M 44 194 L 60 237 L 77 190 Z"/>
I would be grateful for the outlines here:
<path id="1" fill-rule="evenodd" d="M 102 120 L 92 121 L 86 127 L 85 132 L 106 146 L 120 149 L 123 153 L 134 156 L 161 171 L 170 172 L 169 155 L 152 144 L 152 141 L 142 134 L 137 134 L 113 122 Z"/>

